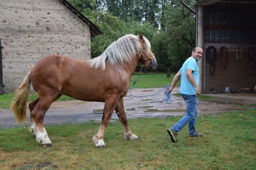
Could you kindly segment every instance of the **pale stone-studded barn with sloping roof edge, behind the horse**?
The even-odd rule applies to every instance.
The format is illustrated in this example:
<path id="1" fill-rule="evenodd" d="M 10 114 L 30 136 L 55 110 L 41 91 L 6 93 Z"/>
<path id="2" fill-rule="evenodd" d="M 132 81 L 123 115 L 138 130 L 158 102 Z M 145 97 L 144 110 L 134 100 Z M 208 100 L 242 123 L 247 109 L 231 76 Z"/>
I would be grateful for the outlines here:
<path id="1" fill-rule="evenodd" d="M 1 0 L 0 18 L 0 94 L 45 56 L 90 59 L 91 38 L 102 33 L 66 0 Z"/>

